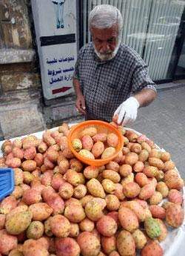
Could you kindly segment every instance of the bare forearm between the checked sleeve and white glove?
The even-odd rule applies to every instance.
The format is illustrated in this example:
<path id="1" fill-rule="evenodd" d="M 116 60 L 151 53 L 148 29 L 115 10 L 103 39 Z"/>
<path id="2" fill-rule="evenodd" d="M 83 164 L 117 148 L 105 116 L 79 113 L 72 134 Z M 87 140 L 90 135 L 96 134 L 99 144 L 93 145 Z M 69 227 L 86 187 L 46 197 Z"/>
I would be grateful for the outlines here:
<path id="1" fill-rule="evenodd" d="M 134 95 L 135 99 L 137 99 L 139 102 L 140 108 L 149 105 L 149 103 L 151 103 L 156 96 L 157 93 L 155 93 L 155 91 L 152 89 L 143 89 Z"/>

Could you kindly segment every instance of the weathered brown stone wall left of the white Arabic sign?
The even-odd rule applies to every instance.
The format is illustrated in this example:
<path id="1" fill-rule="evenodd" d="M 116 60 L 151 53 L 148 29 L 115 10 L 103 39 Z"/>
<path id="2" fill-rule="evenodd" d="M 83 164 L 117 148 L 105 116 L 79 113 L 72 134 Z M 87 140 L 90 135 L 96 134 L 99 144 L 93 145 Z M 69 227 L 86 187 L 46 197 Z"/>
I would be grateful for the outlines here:
<path id="1" fill-rule="evenodd" d="M 1 95 L 41 88 L 27 0 L 0 1 Z"/>

